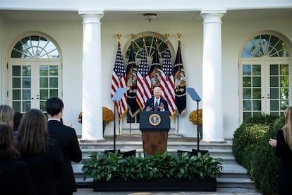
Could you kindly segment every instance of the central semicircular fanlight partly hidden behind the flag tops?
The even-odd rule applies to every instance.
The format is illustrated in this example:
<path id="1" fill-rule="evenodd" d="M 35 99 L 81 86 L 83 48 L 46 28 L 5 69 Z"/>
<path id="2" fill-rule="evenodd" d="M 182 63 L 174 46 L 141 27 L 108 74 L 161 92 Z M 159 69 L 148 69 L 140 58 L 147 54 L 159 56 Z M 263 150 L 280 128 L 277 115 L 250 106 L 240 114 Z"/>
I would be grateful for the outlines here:
<path id="1" fill-rule="evenodd" d="M 147 37 L 145 37 L 145 45 L 146 45 L 146 54 L 147 57 L 153 57 L 154 51 L 155 51 L 155 44 L 156 44 L 156 38 L 154 37 L 155 34 L 158 34 L 157 32 L 145 32 Z M 142 33 L 136 35 L 136 37 L 139 37 L 135 40 L 133 40 L 133 46 L 134 46 L 134 54 L 135 54 L 135 59 L 140 59 L 141 58 L 141 50 L 142 50 Z M 171 57 L 173 56 L 172 53 L 174 52 L 174 48 L 172 45 L 169 44 L 169 50 L 171 51 Z M 130 57 L 130 41 L 126 45 L 126 59 Z M 164 57 L 164 52 L 165 52 L 165 47 L 166 47 L 166 40 L 165 38 L 158 34 L 157 37 L 157 48 L 158 48 L 158 55 L 159 59 L 162 59 Z"/>

